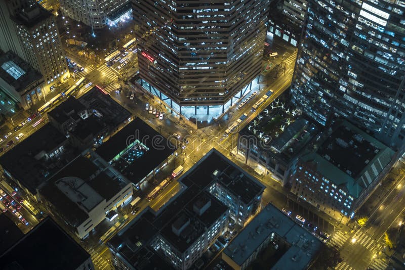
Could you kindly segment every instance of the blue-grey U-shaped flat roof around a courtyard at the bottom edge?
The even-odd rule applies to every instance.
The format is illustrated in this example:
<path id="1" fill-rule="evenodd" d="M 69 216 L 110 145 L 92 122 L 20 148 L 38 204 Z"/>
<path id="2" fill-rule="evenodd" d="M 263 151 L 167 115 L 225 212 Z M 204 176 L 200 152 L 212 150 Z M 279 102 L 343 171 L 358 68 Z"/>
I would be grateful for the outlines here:
<path id="1" fill-rule="evenodd" d="M 268 204 L 224 249 L 224 254 L 242 265 L 270 234 L 291 246 L 271 269 L 305 269 L 322 243 L 272 204 Z"/>

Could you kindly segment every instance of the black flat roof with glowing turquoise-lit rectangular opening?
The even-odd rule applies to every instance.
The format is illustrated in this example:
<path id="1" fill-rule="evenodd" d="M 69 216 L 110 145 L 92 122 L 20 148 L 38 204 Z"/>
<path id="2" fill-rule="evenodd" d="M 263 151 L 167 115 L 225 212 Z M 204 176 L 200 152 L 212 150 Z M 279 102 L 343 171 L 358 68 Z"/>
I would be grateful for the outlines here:
<path id="1" fill-rule="evenodd" d="M 142 144 L 136 144 L 136 140 Z M 96 153 L 136 184 L 174 151 L 175 146 L 144 121 L 135 118 L 97 148 Z"/>

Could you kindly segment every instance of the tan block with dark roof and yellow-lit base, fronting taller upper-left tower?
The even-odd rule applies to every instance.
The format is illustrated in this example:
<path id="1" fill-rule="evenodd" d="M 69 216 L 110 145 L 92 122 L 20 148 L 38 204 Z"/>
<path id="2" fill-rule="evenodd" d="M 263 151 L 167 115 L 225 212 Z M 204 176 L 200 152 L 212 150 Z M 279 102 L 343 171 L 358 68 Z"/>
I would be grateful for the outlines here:
<path id="1" fill-rule="evenodd" d="M 23 9 L 13 20 L 24 58 L 52 85 L 69 78 L 56 19 L 38 4 Z"/>

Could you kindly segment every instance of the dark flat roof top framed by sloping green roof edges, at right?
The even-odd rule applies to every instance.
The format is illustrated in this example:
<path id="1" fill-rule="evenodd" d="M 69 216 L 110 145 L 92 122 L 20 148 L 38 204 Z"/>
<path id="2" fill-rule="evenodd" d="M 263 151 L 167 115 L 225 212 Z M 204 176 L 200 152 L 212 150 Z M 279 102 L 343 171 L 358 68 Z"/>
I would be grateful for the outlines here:
<path id="1" fill-rule="evenodd" d="M 317 154 L 353 178 L 386 147 L 348 122 L 340 125 L 318 148 Z"/>

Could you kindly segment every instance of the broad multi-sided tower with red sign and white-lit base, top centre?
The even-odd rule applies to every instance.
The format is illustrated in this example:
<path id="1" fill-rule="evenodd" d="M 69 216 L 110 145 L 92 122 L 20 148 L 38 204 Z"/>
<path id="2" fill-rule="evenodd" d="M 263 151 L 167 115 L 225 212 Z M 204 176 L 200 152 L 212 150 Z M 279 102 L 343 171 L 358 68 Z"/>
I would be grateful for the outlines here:
<path id="1" fill-rule="evenodd" d="M 182 113 L 229 107 L 260 74 L 268 0 L 133 0 L 140 77 Z"/>

